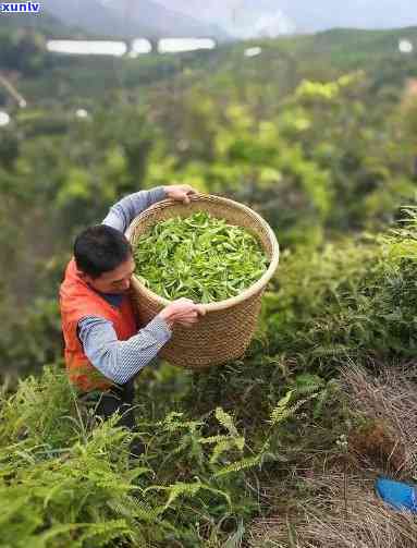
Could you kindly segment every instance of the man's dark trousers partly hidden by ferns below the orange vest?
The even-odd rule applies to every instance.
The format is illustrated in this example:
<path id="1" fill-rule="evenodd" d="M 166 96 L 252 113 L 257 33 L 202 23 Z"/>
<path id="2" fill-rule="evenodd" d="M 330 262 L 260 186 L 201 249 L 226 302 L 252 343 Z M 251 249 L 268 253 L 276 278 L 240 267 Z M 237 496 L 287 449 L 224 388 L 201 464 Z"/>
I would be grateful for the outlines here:
<path id="1" fill-rule="evenodd" d="M 85 394 L 82 397 L 84 402 L 95 403 L 95 415 L 101 417 L 103 421 L 110 418 L 114 413 L 120 414 L 116 426 L 124 426 L 131 431 L 137 431 L 136 418 L 133 409 L 135 397 L 134 381 L 131 380 L 123 386 L 115 385 L 107 392 L 95 392 L 93 394 Z M 144 445 L 135 438 L 130 447 L 131 456 L 139 456 L 144 452 Z"/>

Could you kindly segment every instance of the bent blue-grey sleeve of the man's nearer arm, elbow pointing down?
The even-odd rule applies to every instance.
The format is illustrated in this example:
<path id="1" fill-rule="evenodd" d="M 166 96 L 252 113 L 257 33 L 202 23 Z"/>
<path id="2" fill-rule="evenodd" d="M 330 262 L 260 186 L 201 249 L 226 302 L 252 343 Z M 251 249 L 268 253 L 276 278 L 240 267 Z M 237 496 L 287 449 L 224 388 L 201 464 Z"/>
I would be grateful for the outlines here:
<path id="1" fill-rule="evenodd" d="M 84 353 L 105 377 L 118 385 L 134 378 L 171 339 L 167 321 L 156 316 L 137 334 L 120 341 L 111 321 L 88 316 L 78 322 Z"/>

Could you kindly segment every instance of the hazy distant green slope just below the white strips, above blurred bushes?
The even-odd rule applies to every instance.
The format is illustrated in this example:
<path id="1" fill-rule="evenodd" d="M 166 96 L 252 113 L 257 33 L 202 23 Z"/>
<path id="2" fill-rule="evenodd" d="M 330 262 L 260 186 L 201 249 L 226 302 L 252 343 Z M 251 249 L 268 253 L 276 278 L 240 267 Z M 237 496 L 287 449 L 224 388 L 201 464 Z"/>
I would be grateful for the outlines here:
<path id="1" fill-rule="evenodd" d="M 49 27 L 49 32 L 57 35 L 58 28 Z M 65 33 L 69 34 L 68 28 Z M 23 80 L 21 85 L 35 102 L 54 97 L 70 101 L 93 99 L 101 92 L 109 94 L 121 86 L 124 90 L 144 92 L 168 81 L 181 88 L 207 82 L 212 88 L 217 78 L 233 81 L 234 85 L 241 82 L 243 86 L 252 80 L 257 85 L 274 86 L 281 95 L 293 89 L 303 77 L 326 80 L 363 69 L 377 86 L 391 83 L 398 88 L 415 74 L 416 52 L 405 56 L 398 51 L 398 41 L 404 38 L 417 44 L 417 27 L 375 32 L 334 29 L 314 36 L 223 45 L 213 51 L 151 54 L 134 60 L 46 56 L 50 69 L 35 78 Z M 253 45 L 262 47 L 261 56 L 245 59 L 245 49 Z M 101 80 L 106 81 L 105 87 Z"/>

